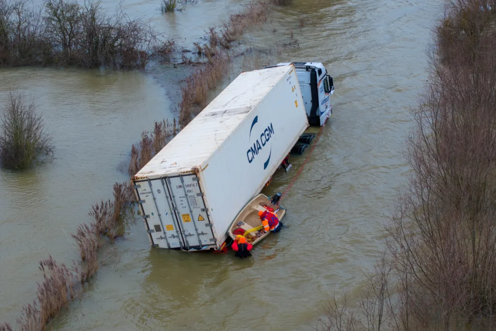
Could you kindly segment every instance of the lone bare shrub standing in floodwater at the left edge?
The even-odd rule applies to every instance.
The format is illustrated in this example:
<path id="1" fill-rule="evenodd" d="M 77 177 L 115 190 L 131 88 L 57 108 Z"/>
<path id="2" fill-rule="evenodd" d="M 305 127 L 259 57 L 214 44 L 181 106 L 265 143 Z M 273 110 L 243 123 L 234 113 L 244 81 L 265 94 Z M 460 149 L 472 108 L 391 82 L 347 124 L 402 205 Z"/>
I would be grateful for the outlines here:
<path id="1" fill-rule="evenodd" d="M 0 118 L 0 163 L 7 169 L 24 169 L 52 152 L 51 137 L 34 100 L 10 93 Z"/>

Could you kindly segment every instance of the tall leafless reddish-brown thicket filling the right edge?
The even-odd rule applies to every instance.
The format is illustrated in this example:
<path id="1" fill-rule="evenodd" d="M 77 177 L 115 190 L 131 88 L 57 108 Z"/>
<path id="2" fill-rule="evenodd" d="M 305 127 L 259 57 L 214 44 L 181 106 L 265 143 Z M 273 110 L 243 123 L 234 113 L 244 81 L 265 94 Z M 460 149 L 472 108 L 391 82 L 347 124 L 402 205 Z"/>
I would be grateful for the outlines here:
<path id="1" fill-rule="evenodd" d="M 412 175 L 387 227 L 391 261 L 369 277 L 372 303 L 340 327 L 346 302 L 333 301 L 319 329 L 495 330 L 495 5 L 452 2 L 436 27 L 405 151 Z"/>

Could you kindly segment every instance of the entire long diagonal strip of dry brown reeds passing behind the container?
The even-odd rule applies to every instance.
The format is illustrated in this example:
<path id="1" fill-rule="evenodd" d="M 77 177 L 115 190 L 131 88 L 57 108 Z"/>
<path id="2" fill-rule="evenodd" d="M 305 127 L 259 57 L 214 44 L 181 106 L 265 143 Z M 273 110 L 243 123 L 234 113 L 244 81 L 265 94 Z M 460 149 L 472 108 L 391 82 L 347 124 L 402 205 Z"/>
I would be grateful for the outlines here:
<path id="1" fill-rule="evenodd" d="M 229 23 L 225 25 L 225 30 L 221 33 L 221 37 L 215 29 L 211 29 L 209 32 L 209 43 L 206 45 L 207 48 L 205 48 L 205 45 L 197 45 L 198 53 L 207 56 L 208 61 L 204 68 L 199 69 L 186 79 L 186 85 L 189 84 L 188 86 L 191 87 L 192 92 L 183 90 L 180 123 L 189 122 L 192 114 L 186 112 L 186 116 L 184 114 L 185 110 L 188 107 L 192 108 L 191 106 L 194 104 L 204 105 L 208 90 L 215 88 L 228 72 L 230 58 L 227 54 L 219 52 L 219 48 L 229 48 L 229 44 L 235 38 L 239 37 L 245 28 L 265 21 L 268 8 L 269 4 L 265 1 L 251 2 L 244 12 L 230 17 Z M 154 53 L 168 56 L 172 52 L 174 43 L 164 44 L 163 47 L 163 49 L 154 48 Z M 0 53 L 0 55 L 2 54 Z M 1 57 L 0 60 L 2 60 Z M 3 62 L 0 61 L 0 64 L 5 65 L 4 58 Z M 185 96 L 190 97 L 190 99 L 186 99 Z M 192 100 L 192 102 L 187 100 Z M 139 147 L 133 144 L 131 148 L 131 161 L 128 168 L 129 175 L 133 176 L 139 171 L 179 131 L 180 128 L 176 120 L 172 124 L 167 120 L 163 120 L 162 122 L 155 122 L 152 133 L 143 132 Z M 44 271 L 44 282 L 42 285 L 39 285 L 38 291 L 40 308 L 38 308 L 36 301 L 33 304 L 23 307 L 21 318 L 17 320 L 21 330 L 44 330 L 50 319 L 55 317 L 62 308 L 67 307 L 74 295 L 73 289 L 75 284 L 77 282 L 83 284 L 97 272 L 97 254 L 103 245 L 100 238 L 108 238 L 112 242 L 121 234 L 119 231 L 119 227 L 121 226 L 120 220 L 122 220 L 125 214 L 128 203 L 134 200 L 131 185 L 130 181 L 122 184 L 116 183 L 114 185 L 114 201 L 102 200 L 99 204 L 92 205 L 89 215 L 93 217 L 93 221 L 90 223 L 90 226 L 81 224 L 76 234 L 72 235 L 81 257 L 79 266 L 76 266 L 71 271 L 65 265 L 56 264 L 51 257 L 48 260 L 42 260 L 40 262 L 40 268 Z M 0 324 L 0 331 L 11 330 L 12 328 L 9 324 Z"/>

